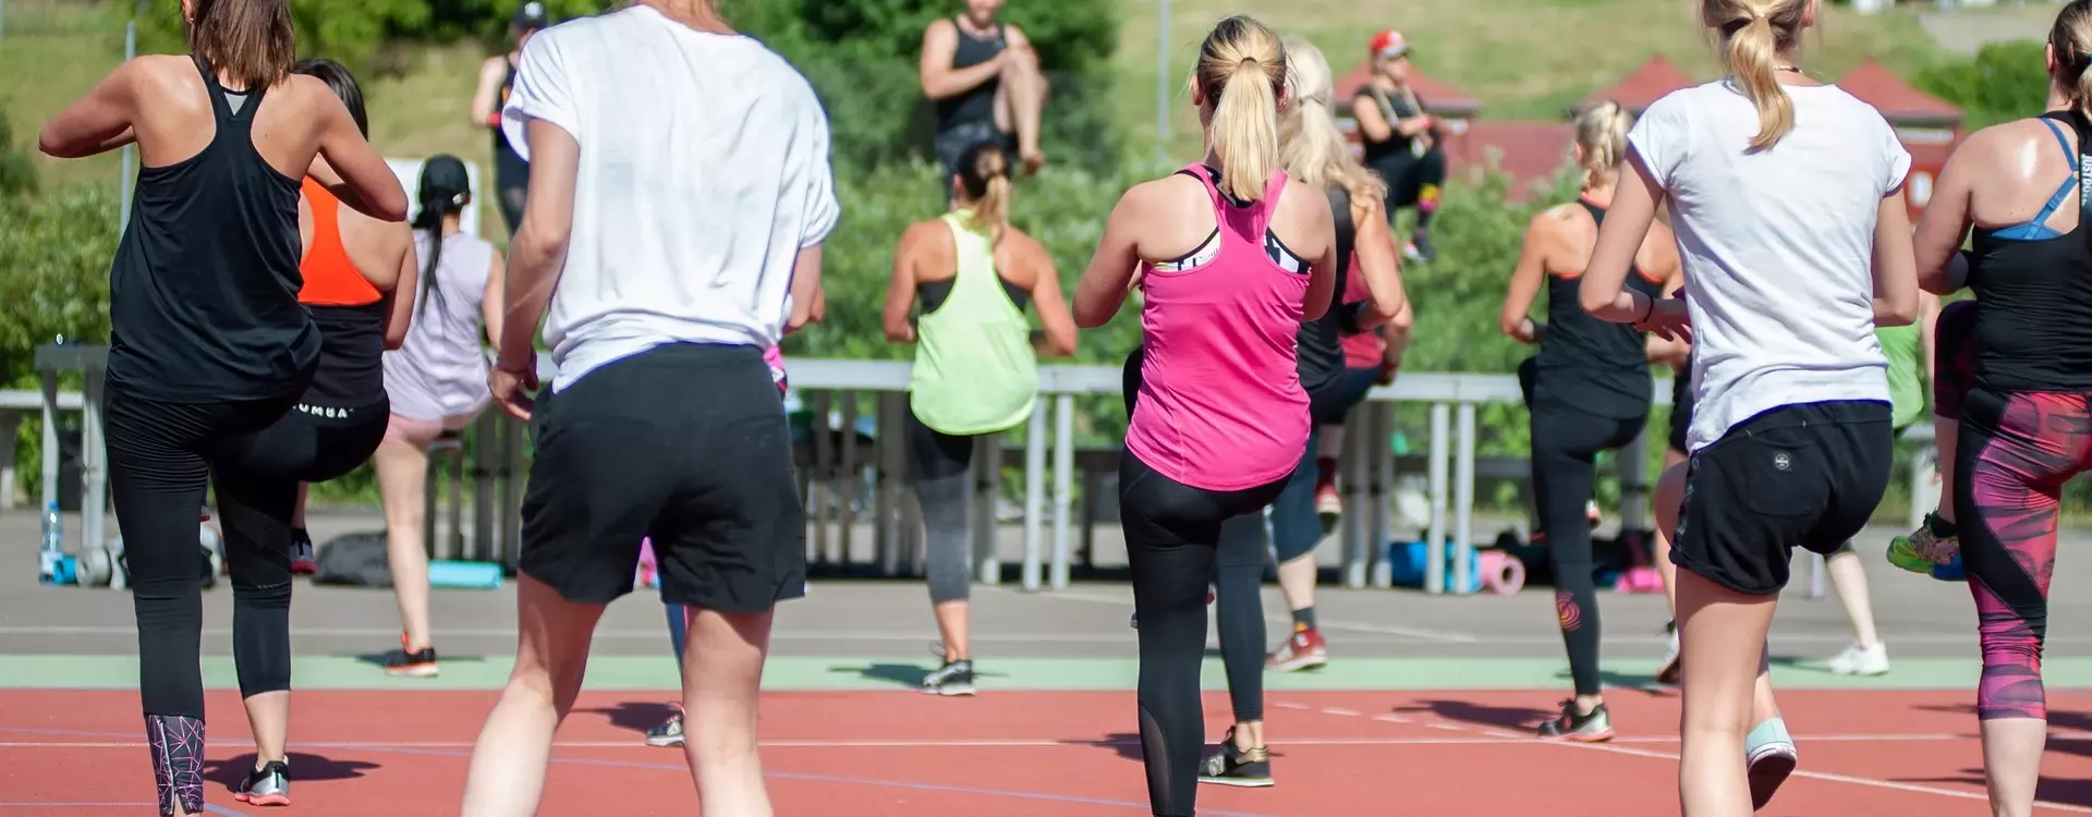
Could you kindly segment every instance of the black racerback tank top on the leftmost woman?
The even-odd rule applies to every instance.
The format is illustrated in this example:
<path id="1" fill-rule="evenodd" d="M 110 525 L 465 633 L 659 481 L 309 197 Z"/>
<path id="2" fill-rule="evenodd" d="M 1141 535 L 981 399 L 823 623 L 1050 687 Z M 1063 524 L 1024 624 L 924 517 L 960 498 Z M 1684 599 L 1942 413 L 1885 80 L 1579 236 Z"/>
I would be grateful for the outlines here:
<path id="1" fill-rule="evenodd" d="M 195 157 L 140 167 L 109 270 L 109 382 L 169 403 L 276 399 L 305 387 L 320 332 L 297 303 L 297 180 L 253 146 L 268 88 L 238 111 L 203 63 L 218 132 Z"/>

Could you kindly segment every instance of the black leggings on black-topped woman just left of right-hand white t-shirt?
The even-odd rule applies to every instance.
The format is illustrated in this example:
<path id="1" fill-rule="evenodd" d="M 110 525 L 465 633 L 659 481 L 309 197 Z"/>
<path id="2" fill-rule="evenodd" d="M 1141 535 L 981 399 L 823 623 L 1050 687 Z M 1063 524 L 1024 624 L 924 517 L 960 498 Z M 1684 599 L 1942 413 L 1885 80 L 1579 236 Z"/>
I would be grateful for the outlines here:
<path id="1" fill-rule="evenodd" d="M 1634 443 L 1646 422 L 1648 416 L 1615 420 L 1548 399 L 1531 407 L 1533 501 L 1554 562 L 1554 616 L 1579 696 L 1598 694 L 1598 587 L 1584 506 L 1598 483 L 1598 451 Z"/>

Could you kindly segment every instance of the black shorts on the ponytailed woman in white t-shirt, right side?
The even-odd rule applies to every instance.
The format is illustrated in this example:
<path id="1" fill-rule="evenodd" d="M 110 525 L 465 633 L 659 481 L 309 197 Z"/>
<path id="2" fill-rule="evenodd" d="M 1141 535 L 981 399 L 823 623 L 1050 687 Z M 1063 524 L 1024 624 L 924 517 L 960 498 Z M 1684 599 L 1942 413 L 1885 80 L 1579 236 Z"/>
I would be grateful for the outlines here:
<path id="1" fill-rule="evenodd" d="M 1835 554 L 1889 489 L 1889 403 L 1782 405 L 1692 453 L 1672 564 L 1772 596 L 1795 547 Z"/>

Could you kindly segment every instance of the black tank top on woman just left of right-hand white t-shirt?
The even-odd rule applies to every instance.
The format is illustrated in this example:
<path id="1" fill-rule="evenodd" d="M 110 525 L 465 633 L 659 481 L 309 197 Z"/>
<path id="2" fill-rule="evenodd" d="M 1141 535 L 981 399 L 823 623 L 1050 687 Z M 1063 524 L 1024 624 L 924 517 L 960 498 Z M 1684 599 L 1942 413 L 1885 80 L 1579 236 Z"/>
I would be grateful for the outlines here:
<path id="1" fill-rule="evenodd" d="M 1592 221 L 1605 224 L 1605 207 L 1582 199 L 1577 205 Z M 1642 332 L 1586 313 L 1577 303 L 1579 280 L 1582 274 L 1548 276 L 1548 334 L 1540 341 L 1533 401 L 1567 403 L 1613 420 L 1648 416 L 1655 380 Z M 1628 267 L 1628 288 L 1663 297 L 1663 284 L 1648 280 L 1640 267 Z"/>

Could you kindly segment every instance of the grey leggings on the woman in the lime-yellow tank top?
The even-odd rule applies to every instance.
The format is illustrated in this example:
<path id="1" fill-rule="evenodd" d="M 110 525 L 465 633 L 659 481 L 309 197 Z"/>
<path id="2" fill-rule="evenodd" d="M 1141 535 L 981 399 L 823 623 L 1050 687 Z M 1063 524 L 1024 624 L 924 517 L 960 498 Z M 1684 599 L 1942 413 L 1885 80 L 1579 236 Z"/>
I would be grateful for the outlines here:
<path id="1" fill-rule="evenodd" d="M 973 589 L 973 543 L 967 478 L 973 476 L 975 435 L 946 435 L 908 412 L 908 453 L 914 462 L 916 504 L 923 506 L 923 550 L 929 562 L 929 602 L 964 602 Z"/>

